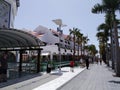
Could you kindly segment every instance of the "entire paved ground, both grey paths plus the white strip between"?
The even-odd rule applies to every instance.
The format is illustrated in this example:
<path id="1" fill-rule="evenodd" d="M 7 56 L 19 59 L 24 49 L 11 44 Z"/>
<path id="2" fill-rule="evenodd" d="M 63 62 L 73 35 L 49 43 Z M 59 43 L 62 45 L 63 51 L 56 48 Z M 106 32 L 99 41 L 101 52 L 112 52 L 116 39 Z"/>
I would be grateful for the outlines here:
<path id="1" fill-rule="evenodd" d="M 74 72 L 64 67 L 61 72 L 55 70 L 51 74 L 38 74 L 32 79 L 0 87 L 0 90 L 120 90 L 120 77 L 113 74 L 113 70 L 105 64 L 92 64 L 89 70 L 76 67 Z"/>

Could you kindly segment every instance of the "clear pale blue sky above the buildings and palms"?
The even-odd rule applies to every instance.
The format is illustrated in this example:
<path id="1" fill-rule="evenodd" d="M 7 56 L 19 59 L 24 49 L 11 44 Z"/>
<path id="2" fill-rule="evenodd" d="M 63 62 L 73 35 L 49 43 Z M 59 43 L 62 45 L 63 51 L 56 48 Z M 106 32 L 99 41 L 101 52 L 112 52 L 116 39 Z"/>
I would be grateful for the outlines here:
<path id="1" fill-rule="evenodd" d="M 39 25 L 48 29 L 55 29 L 57 25 L 52 22 L 62 19 L 63 33 L 69 34 L 69 29 L 78 28 L 84 36 L 88 36 L 89 44 L 96 45 L 97 27 L 104 23 L 104 14 L 91 13 L 92 7 L 101 0 L 20 0 L 14 27 L 17 29 L 34 30 Z"/>

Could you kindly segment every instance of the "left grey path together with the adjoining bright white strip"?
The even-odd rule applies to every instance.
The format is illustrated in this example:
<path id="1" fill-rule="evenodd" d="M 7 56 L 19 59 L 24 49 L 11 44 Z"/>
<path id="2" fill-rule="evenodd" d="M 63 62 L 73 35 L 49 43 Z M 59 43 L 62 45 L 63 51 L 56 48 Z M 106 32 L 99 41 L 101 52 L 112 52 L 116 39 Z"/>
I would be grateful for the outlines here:
<path id="1" fill-rule="evenodd" d="M 29 76 L 31 79 L 25 77 L 2 83 L 0 90 L 56 90 L 84 69 L 76 67 L 74 72 L 71 72 L 70 67 L 64 67 L 61 69 L 61 72 L 54 70 L 51 74 L 37 74 L 32 78 Z"/>

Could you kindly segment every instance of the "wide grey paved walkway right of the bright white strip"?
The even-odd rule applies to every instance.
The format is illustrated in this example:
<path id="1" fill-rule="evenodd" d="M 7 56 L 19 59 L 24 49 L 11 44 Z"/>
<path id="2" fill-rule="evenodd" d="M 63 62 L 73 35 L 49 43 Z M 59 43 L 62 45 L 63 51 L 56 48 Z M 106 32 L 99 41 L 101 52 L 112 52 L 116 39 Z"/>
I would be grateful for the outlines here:
<path id="1" fill-rule="evenodd" d="M 120 90 L 120 77 L 105 64 L 93 64 L 58 90 Z"/>

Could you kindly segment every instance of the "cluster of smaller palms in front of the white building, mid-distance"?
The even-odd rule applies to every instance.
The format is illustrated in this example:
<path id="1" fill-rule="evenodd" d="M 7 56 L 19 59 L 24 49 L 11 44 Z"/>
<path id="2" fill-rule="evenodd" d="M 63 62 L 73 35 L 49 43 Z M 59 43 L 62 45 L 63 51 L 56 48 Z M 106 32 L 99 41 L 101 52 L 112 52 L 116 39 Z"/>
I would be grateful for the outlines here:
<path id="1" fill-rule="evenodd" d="M 95 45 L 88 45 L 89 38 L 88 36 L 84 36 L 83 33 L 80 32 L 80 29 L 73 28 L 69 29 L 70 32 L 70 39 L 72 39 L 74 48 L 73 48 L 73 60 L 75 60 L 75 53 L 76 53 L 76 44 L 78 46 L 78 53 L 77 53 L 77 59 L 82 58 L 85 55 L 85 50 L 89 52 L 92 56 L 95 56 L 97 54 L 97 50 Z M 72 37 L 72 38 L 71 38 Z M 79 50 L 81 53 L 79 53 Z"/>

